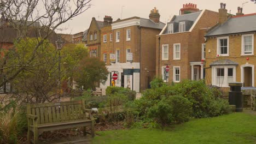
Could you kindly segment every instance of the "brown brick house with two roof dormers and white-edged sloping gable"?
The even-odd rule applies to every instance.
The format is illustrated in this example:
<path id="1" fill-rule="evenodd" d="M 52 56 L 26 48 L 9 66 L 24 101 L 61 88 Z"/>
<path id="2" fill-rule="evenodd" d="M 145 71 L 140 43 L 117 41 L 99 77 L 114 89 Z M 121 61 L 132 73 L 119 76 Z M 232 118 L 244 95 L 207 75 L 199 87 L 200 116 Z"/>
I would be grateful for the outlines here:
<path id="1" fill-rule="evenodd" d="M 174 15 L 156 37 L 156 76 L 170 83 L 203 79 L 204 35 L 217 22 L 217 12 L 184 4 L 181 15 Z"/>

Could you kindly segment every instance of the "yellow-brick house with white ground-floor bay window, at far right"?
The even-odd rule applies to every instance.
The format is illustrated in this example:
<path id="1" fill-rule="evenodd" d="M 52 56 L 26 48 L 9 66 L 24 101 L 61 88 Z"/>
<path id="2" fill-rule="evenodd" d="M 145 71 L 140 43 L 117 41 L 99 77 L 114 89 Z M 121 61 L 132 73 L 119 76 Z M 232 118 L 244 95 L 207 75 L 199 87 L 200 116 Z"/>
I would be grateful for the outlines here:
<path id="1" fill-rule="evenodd" d="M 242 13 L 226 17 L 225 4 L 219 9 L 219 24 L 206 37 L 206 83 L 228 91 L 229 82 L 242 82 L 255 87 L 254 55 L 256 45 L 256 14 Z"/>

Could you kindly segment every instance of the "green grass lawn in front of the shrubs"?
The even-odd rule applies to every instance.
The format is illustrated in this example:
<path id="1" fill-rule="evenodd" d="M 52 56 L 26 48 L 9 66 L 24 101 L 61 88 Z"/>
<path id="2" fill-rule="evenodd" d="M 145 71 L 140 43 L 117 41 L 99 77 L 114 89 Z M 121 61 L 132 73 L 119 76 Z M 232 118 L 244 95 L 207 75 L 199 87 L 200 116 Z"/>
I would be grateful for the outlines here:
<path id="1" fill-rule="evenodd" d="M 256 143 L 256 116 L 246 113 L 192 119 L 166 129 L 100 131 L 92 143 Z"/>

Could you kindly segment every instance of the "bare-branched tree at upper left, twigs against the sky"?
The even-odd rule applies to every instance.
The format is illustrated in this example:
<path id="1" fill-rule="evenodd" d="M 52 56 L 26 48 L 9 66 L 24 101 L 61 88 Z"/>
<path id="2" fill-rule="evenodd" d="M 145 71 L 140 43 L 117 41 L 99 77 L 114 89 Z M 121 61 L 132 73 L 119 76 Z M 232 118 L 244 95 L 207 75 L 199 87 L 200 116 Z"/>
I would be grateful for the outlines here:
<path id="1" fill-rule="evenodd" d="M 90 2 L 91 0 L 0 0 L 0 87 L 15 79 L 21 71 L 42 63 L 34 60 L 40 45 L 45 39 L 54 39 L 54 31 L 61 30 L 59 27 L 63 23 L 89 9 Z M 5 43 L 5 39 L 12 34 L 15 37 L 13 43 L 31 35 L 37 38 L 38 43 L 29 57 L 15 53 L 15 45 L 11 45 L 11 41 Z M 10 57 L 14 56 L 19 57 L 19 61 L 8 63 Z"/>

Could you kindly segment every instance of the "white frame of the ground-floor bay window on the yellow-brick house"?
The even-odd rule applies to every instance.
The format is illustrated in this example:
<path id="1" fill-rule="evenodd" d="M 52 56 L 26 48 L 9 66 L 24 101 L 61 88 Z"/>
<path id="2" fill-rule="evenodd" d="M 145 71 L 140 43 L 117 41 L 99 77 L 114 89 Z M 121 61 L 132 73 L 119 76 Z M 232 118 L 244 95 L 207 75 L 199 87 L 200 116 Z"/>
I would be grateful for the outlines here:
<path id="1" fill-rule="evenodd" d="M 217 83 L 217 69 L 224 68 L 224 80 L 222 83 Z M 233 81 L 236 81 L 236 66 L 235 65 L 212 65 L 212 85 L 218 87 L 229 87 L 228 69 L 233 69 Z"/>

